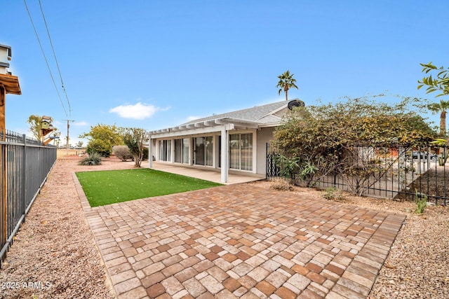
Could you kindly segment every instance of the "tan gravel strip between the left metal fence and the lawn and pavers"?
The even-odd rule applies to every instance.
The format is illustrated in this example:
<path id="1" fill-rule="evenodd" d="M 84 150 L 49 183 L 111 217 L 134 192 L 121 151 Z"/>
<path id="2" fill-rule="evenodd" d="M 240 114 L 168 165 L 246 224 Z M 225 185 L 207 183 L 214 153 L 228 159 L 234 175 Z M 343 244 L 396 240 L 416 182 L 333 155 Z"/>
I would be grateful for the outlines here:
<path id="1" fill-rule="evenodd" d="M 132 167 L 57 160 L 1 264 L 0 298 L 114 298 L 72 172 Z"/>

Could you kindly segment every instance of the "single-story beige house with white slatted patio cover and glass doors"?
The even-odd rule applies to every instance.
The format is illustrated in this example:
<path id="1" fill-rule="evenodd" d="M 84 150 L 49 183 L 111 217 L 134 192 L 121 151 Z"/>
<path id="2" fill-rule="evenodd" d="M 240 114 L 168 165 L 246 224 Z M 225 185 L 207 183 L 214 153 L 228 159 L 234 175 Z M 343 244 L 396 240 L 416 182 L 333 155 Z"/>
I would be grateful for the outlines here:
<path id="1" fill-rule="evenodd" d="M 304 104 L 276 102 L 149 132 L 149 167 L 155 160 L 220 171 L 223 183 L 229 172 L 265 177 L 267 142 L 292 105 Z"/>

